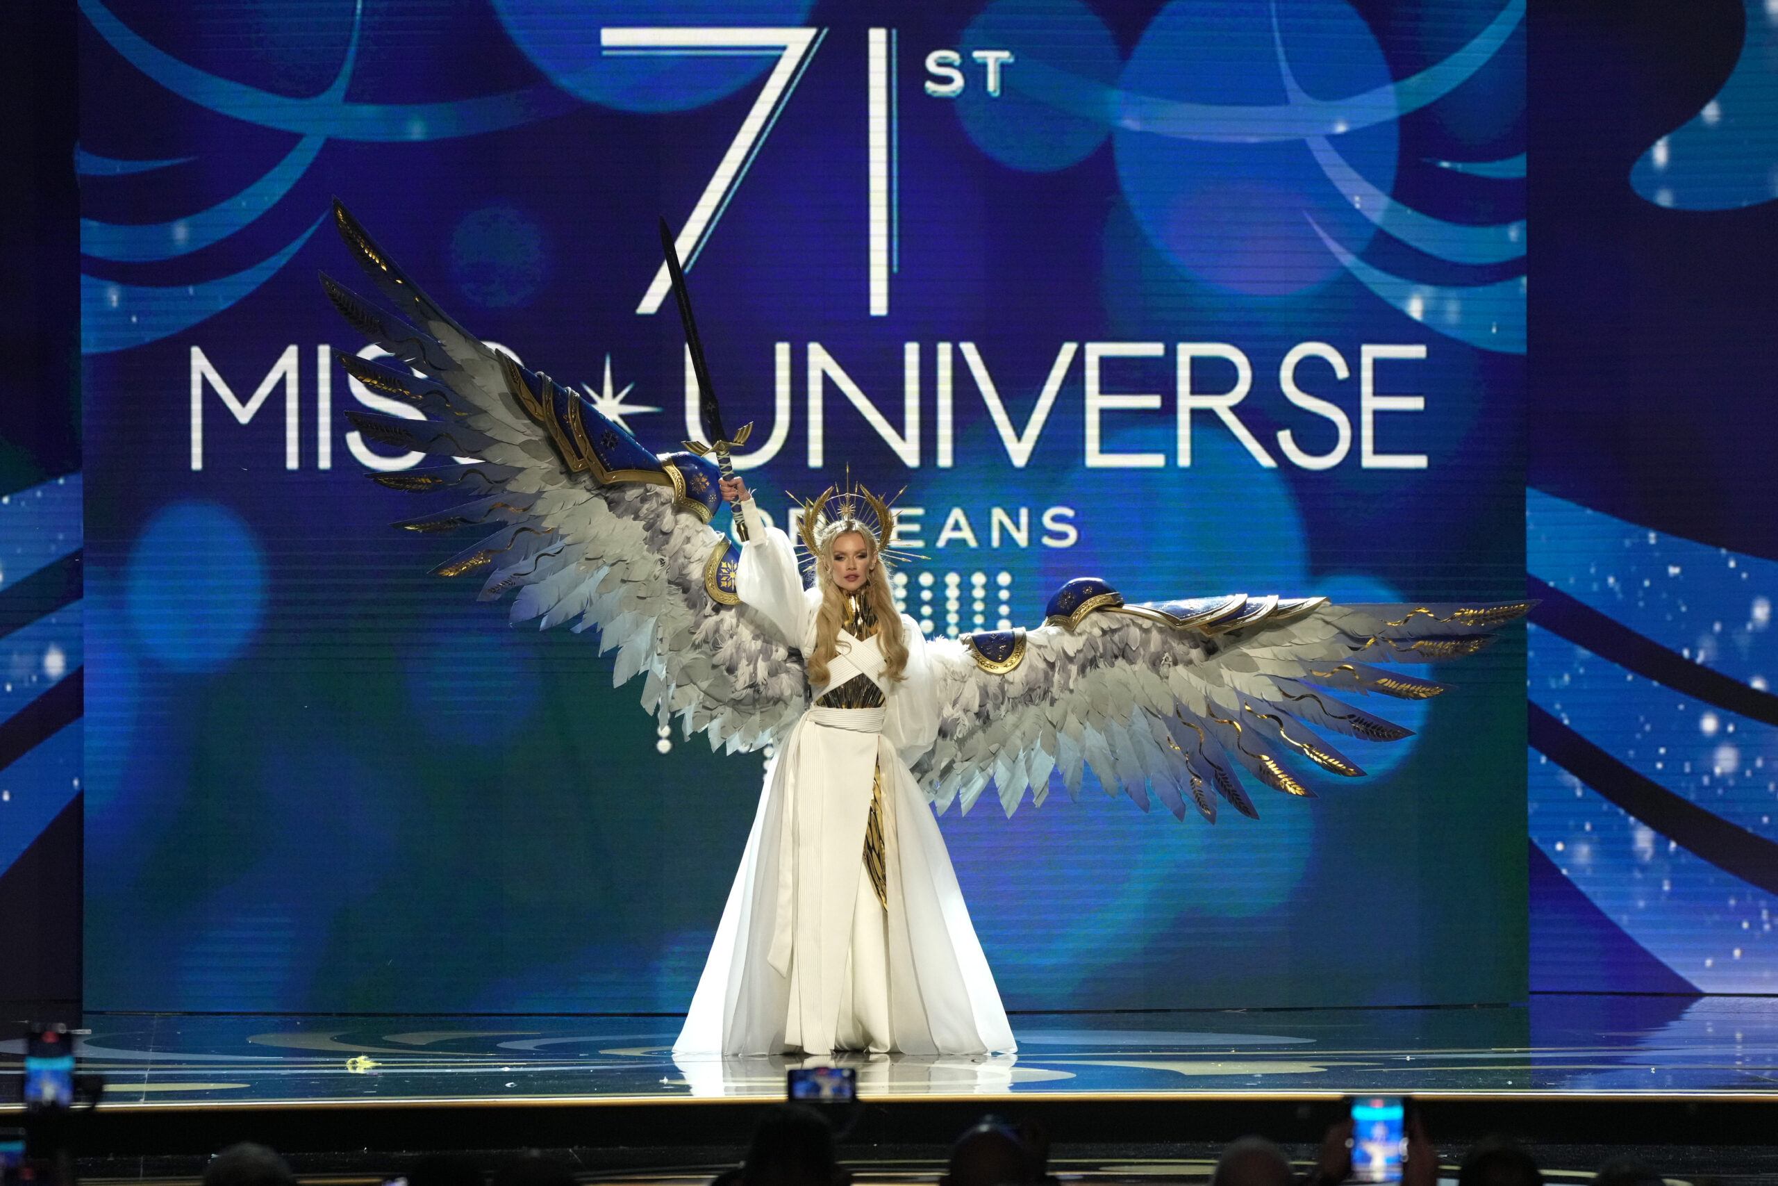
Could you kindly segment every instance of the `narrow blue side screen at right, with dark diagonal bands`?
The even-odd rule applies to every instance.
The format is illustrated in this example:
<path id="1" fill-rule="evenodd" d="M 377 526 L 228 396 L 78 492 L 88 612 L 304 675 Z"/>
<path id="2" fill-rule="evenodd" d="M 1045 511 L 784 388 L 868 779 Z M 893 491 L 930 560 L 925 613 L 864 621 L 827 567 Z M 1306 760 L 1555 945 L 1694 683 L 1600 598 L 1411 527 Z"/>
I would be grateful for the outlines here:
<path id="1" fill-rule="evenodd" d="M 1531 987 L 1766 994 L 1778 7 L 1538 20 Z"/>

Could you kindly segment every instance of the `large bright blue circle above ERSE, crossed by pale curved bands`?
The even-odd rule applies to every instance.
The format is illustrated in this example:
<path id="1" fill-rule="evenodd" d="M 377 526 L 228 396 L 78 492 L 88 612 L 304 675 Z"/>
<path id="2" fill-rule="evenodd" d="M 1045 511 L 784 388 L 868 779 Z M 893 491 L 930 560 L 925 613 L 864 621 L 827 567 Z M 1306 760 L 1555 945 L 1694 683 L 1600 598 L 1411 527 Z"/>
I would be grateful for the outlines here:
<path id="1" fill-rule="evenodd" d="M 1284 107 L 1296 85 L 1335 100 L 1390 82 L 1376 39 L 1342 0 L 1278 5 L 1170 4 L 1124 68 L 1120 89 L 1147 100 Z M 1310 146 L 1213 142 L 1122 128 L 1118 180 L 1136 222 L 1177 267 L 1220 288 L 1285 295 L 1342 272 L 1321 233 L 1357 254 L 1374 235 L 1351 197 L 1335 190 Z M 1396 180 L 1396 124 L 1328 137 L 1376 188 Z"/>

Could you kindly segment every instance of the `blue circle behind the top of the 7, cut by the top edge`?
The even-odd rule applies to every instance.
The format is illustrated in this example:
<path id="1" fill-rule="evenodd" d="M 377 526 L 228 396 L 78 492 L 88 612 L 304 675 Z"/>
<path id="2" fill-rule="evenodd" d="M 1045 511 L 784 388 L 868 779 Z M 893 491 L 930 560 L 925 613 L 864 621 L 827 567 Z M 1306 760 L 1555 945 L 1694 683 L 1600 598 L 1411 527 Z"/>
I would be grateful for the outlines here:
<path id="1" fill-rule="evenodd" d="M 494 0 L 507 34 L 553 84 L 589 103 L 626 112 L 685 112 L 763 75 L 761 57 L 608 55 L 606 27 L 802 25 L 809 0 Z"/>

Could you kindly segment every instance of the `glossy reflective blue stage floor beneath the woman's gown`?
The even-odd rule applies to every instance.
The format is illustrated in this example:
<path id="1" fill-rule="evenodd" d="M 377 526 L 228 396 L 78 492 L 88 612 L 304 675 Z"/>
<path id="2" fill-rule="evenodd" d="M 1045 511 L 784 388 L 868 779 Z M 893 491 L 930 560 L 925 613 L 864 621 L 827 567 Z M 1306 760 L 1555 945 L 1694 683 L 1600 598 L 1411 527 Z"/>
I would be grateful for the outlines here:
<path id="1" fill-rule="evenodd" d="M 841 1056 L 864 1097 L 1773 1094 L 1778 999 L 1015 1015 L 1017 1054 Z M 677 1017 L 89 1014 L 105 1106 L 770 1099 L 784 1058 L 676 1060 Z M 20 1042 L 0 1044 L 0 1070 Z"/>

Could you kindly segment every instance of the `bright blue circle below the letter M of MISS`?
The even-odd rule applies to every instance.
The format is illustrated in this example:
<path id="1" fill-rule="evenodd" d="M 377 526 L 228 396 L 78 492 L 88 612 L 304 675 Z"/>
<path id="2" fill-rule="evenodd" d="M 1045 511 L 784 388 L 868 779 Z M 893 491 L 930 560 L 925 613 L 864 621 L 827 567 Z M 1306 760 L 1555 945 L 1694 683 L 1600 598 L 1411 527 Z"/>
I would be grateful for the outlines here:
<path id="1" fill-rule="evenodd" d="M 265 553 L 228 507 L 164 507 L 130 549 L 130 624 L 142 649 L 181 672 L 226 667 L 265 613 Z"/>

